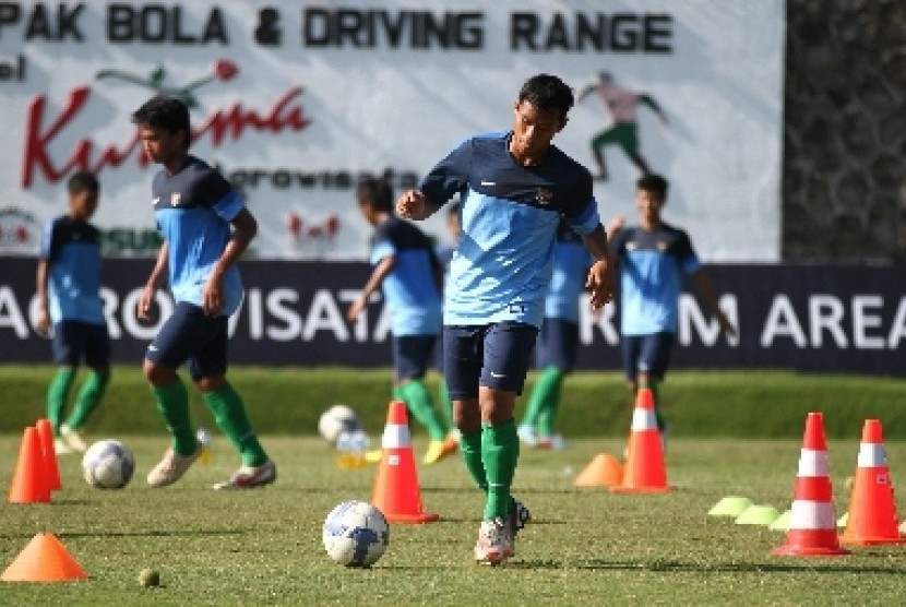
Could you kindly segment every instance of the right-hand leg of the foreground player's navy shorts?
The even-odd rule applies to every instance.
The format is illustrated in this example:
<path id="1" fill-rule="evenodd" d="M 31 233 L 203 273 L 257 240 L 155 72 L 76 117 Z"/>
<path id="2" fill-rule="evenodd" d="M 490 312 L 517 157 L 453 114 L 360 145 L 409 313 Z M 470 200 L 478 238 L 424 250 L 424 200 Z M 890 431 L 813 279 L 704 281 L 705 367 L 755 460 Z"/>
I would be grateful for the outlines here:
<path id="1" fill-rule="evenodd" d="M 498 322 L 485 333 L 480 385 L 522 394 L 538 329 L 522 322 Z"/>

